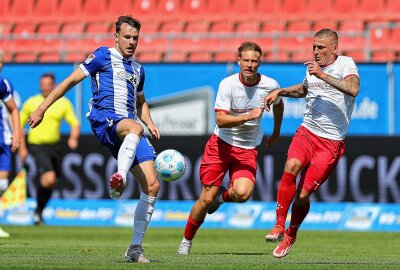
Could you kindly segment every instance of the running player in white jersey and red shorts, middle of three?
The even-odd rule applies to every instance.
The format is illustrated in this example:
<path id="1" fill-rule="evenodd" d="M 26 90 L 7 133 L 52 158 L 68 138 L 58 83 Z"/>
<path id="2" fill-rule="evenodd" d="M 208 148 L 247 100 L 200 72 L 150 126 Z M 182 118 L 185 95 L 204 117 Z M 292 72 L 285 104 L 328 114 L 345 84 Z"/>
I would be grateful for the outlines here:
<path id="1" fill-rule="evenodd" d="M 192 207 L 178 254 L 189 254 L 192 240 L 206 214 L 212 214 L 223 202 L 247 201 L 253 193 L 257 171 L 257 149 L 263 133 L 260 121 L 264 98 L 279 88 L 272 78 L 258 73 L 262 50 L 253 42 L 238 48 L 240 72 L 222 80 L 215 102 L 216 127 L 208 140 L 200 165 L 203 190 Z M 280 135 L 283 100 L 274 102 L 274 128 L 266 145 L 273 146 Z M 229 170 L 230 186 L 222 186 Z"/>

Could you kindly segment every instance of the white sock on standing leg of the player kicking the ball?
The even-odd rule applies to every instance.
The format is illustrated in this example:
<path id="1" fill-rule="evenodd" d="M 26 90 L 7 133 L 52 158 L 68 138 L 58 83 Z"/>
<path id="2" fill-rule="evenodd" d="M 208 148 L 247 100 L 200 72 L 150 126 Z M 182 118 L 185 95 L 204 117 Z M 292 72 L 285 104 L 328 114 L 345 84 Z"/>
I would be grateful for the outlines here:
<path id="1" fill-rule="evenodd" d="M 149 225 L 151 216 L 153 215 L 156 199 L 156 197 L 146 195 L 143 192 L 140 194 L 140 199 L 135 210 L 132 245 L 142 245 L 147 225 Z"/>

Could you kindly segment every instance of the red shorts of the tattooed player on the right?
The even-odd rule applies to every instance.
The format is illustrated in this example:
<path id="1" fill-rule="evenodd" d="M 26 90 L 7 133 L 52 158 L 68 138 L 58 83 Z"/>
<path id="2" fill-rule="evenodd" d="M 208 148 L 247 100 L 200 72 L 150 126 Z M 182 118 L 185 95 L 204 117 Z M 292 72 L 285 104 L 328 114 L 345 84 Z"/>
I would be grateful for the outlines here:
<path id="1" fill-rule="evenodd" d="M 288 150 L 288 159 L 300 160 L 300 184 L 308 193 L 316 191 L 335 169 L 345 150 L 344 141 L 319 137 L 300 126 Z"/>

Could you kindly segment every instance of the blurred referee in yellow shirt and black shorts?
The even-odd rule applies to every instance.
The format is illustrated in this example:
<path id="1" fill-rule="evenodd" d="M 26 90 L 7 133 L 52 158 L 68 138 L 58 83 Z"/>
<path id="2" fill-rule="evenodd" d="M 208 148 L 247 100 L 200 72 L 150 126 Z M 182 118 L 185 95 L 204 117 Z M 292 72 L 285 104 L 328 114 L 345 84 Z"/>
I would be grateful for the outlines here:
<path id="1" fill-rule="evenodd" d="M 40 94 L 30 97 L 22 105 L 21 127 L 27 123 L 29 115 L 40 105 L 40 103 L 53 91 L 55 77 L 52 73 L 42 74 L 39 80 Z M 22 138 L 19 156 L 22 164 L 25 164 L 28 153 L 35 160 L 39 180 L 37 183 L 37 206 L 34 212 L 33 221 L 35 225 L 43 224 L 43 210 L 51 198 L 51 194 L 60 175 L 60 157 L 62 145 L 61 123 L 65 120 L 70 126 L 68 147 L 71 150 L 78 148 L 80 124 L 75 116 L 72 103 L 65 97 L 58 100 L 54 106 L 47 111 L 43 123 L 36 129 L 28 130 L 28 138 Z M 26 143 L 27 141 L 27 143 Z M 28 151 L 29 146 L 29 151 Z"/>

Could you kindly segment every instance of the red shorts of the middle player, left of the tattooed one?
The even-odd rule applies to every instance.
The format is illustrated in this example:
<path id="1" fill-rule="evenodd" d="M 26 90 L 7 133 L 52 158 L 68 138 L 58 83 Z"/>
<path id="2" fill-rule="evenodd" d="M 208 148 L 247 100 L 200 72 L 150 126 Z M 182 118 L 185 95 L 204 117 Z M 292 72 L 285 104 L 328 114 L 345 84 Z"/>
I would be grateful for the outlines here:
<path id="1" fill-rule="evenodd" d="M 232 146 L 213 134 L 204 149 L 200 164 L 200 179 L 203 185 L 220 186 L 229 170 L 230 185 L 245 177 L 256 182 L 257 149 Z"/>

